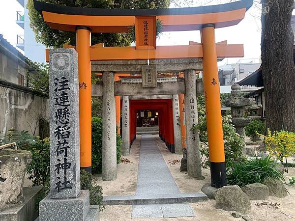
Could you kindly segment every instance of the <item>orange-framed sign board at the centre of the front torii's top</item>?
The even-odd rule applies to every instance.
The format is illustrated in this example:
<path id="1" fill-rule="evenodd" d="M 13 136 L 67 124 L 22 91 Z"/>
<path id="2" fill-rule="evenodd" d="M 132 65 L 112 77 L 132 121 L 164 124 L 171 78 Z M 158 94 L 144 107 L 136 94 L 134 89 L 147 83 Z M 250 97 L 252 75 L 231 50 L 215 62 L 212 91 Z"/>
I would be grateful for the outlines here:
<path id="1" fill-rule="evenodd" d="M 135 48 L 156 49 L 156 16 L 135 16 Z"/>

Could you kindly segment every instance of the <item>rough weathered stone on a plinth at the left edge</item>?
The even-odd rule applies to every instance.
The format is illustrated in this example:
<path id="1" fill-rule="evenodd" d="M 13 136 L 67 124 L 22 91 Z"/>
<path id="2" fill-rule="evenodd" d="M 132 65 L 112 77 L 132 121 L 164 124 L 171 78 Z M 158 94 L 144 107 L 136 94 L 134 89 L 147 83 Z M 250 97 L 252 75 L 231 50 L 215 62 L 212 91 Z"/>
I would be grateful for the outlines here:
<path id="1" fill-rule="evenodd" d="M 25 173 L 31 160 L 26 150 L 0 150 L 0 209 L 24 200 Z"/>

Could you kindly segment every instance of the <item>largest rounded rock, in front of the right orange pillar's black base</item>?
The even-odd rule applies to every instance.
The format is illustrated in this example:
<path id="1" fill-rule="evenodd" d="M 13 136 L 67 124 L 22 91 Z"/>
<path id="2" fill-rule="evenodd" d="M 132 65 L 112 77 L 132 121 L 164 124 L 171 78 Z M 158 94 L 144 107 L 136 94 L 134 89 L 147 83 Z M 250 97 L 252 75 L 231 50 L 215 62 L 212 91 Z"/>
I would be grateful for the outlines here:
<path id="1" fill-rule="evenodd" d="M 236 211 L 241 214 L 251 212 L 249 197 L 239 186 L 222 187 L 215 193 L 216 208 Z"/>

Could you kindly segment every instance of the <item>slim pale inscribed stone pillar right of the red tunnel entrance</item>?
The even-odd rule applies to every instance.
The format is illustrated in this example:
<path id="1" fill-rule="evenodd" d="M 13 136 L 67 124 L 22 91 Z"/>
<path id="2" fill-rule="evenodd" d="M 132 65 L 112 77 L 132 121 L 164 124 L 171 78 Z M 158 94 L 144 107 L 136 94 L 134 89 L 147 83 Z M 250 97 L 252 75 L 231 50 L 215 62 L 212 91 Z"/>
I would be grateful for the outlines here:
<path id="1" fill-rule="evenodd" d="M 174 128 L 175 153 L 182 154 L 182 141 L 181 141 L 181 126 L 180 126 L 178 94 L 173 95 L 172 108 L 173 108 L 173 128 Z"/>

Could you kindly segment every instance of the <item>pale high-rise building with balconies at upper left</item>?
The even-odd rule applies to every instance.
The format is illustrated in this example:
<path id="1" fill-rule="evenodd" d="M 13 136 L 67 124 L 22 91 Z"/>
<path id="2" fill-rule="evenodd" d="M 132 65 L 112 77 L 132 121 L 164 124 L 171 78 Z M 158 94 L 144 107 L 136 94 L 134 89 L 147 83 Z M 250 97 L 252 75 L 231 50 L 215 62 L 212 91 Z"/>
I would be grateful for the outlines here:
<path id="1" fill-rule="evenodd" d="M 29 27 L 29 15 L 26 7 L 28 0 L 17 0 L 24 11 L 16 12 L 16 24 L 24 29 L 24 33 L 18 34 L 16 47 L 25 52 L 25 56 L 32 61 L 45 62 L 45 46 L 37 43 L 32 29 Z"/>

